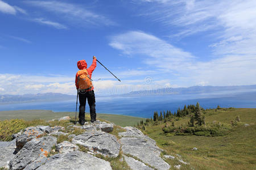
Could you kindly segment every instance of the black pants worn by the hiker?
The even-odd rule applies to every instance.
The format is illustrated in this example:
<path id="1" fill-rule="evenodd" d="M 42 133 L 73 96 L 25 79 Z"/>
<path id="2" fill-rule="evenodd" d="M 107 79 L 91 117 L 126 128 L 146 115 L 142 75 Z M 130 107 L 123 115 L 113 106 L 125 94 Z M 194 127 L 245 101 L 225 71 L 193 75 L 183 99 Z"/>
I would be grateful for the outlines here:
<path id="1" fill-rule="evenodd" d="M 85 121 L 85 104 L 86 99 L 88 99 L 88 104 L 90 107 L 90 119 L 92 121 L 96 121 L 96 110 L 95 110 L 95 95 L 94 91 L 86 91 L 86 92 L 79 92 L 79 121 Z"/>

